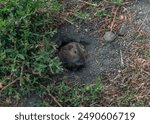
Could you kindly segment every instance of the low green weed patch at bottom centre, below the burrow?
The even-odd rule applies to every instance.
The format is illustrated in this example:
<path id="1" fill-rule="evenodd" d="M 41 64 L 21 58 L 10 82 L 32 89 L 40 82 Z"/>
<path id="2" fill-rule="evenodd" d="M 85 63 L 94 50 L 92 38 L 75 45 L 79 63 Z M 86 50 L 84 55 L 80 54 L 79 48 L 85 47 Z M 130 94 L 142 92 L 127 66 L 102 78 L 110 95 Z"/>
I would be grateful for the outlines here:
<path id="1" fill-rule="evenodd" d="M 100 79 L 92 84 L 68 84 L 59 82 L 47 87 L 62 106 L 95 106 L 101 99 L 103 85 Z M 56 104 L 56 103 L 55 103 Z"/>

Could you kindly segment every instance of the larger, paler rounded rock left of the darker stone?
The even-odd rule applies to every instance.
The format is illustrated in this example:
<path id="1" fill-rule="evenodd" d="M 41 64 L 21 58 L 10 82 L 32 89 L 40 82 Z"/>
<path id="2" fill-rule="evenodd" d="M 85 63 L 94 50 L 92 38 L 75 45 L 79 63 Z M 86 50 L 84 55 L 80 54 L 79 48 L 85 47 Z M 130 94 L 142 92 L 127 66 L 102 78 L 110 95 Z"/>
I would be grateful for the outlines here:
<path id="1" fill-rule="evenodd" d="M 117 35 L 111 31 L 105 32 L 104 34 L 104 40 L 106 42 L 111 42 L 114 41 L 116 39 Z"/>

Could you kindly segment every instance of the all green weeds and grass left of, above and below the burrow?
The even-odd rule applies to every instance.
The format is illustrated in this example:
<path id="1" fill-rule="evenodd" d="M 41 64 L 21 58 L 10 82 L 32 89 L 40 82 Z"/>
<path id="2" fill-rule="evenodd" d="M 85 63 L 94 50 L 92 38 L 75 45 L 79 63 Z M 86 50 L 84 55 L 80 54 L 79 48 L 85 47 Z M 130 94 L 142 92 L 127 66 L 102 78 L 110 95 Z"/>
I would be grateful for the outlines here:
<path id="1" fill-rule="evenodd" d="M 120 4 L 122 1 L 111 2 Z M 94 2 L 86 4 L 88 10 L 97 5 Z M 62 10 L 67 6 L 59 0 L 0 1 L 0 84 L 3 85 L 0 103 L 14 105 L 24 96 L 36 93 L 42 100 L 37 100 L 35 106 L 58 106 L 48 94 L 62 106 L 100 105 L 105 89 L 99 78 L 91 84 L 68 83 L 65 79 L 57 79 L 54 83 L 53 76 L 63 68 L 54 54 L 57 45 L 50 37 L 62 21 L 86 21 L 93 15 L 100 18 L 112 15 L 101 8 L 96 8 L 94 14 L 75 7 L 69 16 L 64 16 Z M 130 95 L 120 98 L 120 105 L 127 104 L 126 97 Z"/>

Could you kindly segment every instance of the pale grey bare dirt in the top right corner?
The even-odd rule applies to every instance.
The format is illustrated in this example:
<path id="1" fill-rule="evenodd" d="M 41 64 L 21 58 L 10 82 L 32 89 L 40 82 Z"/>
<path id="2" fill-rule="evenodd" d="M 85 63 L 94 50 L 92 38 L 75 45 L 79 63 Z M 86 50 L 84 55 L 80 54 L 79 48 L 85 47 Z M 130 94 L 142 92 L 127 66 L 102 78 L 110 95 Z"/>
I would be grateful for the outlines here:
<path id="1" fill-rule="evenodd" d="M 137 31 L 140 34 L 145 34 L 149 38 L 150 34 L 150 1 L 138 0 L 132 7 L 127 9 L 132 13 L 132 23 L 130 25 L 132 32 Z M 136 30 L 135 30 L 136 29 Z"/>

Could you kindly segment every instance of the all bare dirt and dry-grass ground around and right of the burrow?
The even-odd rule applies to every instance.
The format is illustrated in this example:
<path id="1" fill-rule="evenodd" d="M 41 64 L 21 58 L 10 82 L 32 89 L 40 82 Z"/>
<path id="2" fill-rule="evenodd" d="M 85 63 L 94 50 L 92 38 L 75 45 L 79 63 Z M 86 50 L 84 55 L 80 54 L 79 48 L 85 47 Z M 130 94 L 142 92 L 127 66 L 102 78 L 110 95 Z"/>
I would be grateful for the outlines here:
<path id="1" fill-rule="evenodd" d="M 89 84 L 101 78 L 104 90 L 95 106 L 150 106 L 150 2 L 137 0 L 117 12 L 116 21 L 126 23 L 124 36 L 105 42 L 104 20 L 64 24 L 59 38 L 84 43 L 88 50 L 86 66 L 79 71 L 64 71 L 67 81 Z M 117 33 L 117 29 L 115 30 Z M 19 106 L 39 106 L 36 93 L 25 96 Z M 57 101 L 57 100 L 56 100 Z M 58 100 L 59 101 L 59 100 Z"/>

